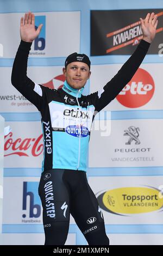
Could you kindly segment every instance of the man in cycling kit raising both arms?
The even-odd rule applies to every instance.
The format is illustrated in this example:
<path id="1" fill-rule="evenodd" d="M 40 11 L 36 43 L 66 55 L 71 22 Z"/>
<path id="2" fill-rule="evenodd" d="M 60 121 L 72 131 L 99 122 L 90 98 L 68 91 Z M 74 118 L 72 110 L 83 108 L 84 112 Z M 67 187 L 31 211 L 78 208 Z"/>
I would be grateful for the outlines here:
<path id="1" fill-rule="evenodd" d="M 66 58 L 64 86 L 58 90 L 27 77 L 27 60 L 35 30 L 35 17 L 21 18 L 21 43 L 12 68 L 13 86 L 41 113 L 44 154 L 39 195 L 43 207 L 45 245 L 64 245 L 72 214 L 89 245 L 109 245 L 104 218 L 86 179 L 87 149 L 94 113 L 101 111 L 131 80 L 154 39 L 157 16 L 141 20 L 143 39 L 118 73 L 98 92 L 84 96 L 90 78 L 90 59 L 72 53 Z"/>

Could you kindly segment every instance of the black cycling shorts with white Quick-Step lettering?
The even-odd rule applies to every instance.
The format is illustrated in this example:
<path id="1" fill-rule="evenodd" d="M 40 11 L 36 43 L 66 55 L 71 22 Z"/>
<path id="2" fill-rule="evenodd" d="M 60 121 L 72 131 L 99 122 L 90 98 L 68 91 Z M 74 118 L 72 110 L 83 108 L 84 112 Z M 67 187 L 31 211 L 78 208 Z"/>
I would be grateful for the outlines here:
<path id="1" fill-rule="evenodd" d="M 89 245 L 109 245 L 97 198 L 82 170 L 51 169 L 41 174 L 45 245 L 64 245 L 70 214 Z"/>

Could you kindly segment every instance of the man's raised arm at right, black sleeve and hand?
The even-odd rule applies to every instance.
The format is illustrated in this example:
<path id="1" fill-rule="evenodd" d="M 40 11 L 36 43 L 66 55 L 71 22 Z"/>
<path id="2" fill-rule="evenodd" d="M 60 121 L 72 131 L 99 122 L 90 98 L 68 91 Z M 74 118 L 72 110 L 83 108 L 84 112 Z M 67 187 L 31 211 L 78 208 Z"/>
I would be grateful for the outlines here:
<path id="1" fill-rule="evenodd" d="M 154 13 L 151 15 L 148 13 L 146 19 L 142 20 L 140 18 L 140 21 L 143 39 L 140 41 L 135 52 L 102 90 L 92 94 L 95 100 L 95 111 L 97 112 L 101 111 L 101 109 L 108 105 L 111 100 L 115 99 L 115 97 L 134 76 L 136 70 L 139 68 L 146 56 L 148 48 L 154 39 L 158 20 Z"/>

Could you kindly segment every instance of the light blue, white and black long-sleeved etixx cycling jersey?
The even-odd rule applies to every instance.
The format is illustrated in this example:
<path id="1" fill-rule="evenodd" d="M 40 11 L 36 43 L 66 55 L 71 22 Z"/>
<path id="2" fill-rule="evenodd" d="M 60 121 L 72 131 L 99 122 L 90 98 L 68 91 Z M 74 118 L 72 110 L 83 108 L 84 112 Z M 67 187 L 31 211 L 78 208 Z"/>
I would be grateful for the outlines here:
<path id="1" fill-rule="evenodd" d="M 131 80 L 150 44 L 141 40 L 135 52 L 103 89 L 86 96 L 82 94 L 84 88 L 73 89 L 66 81 L 57 90 L 30 80 L 27 77 L 27 61 L 31 45 L 21 40 L 11 82 L 41 113 L 44 143 L 42 172 L 55 168 L 86 171 L 90 130 L 95 113 L 115 99 Z"/>

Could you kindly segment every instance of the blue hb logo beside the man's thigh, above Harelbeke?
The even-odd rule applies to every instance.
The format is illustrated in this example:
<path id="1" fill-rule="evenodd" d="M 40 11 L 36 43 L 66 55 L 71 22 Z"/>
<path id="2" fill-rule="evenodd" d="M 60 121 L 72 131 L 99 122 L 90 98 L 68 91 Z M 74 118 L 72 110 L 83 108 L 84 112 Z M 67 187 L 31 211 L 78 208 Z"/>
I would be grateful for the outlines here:
<path id="1" fill-rule="evenodd" d="M 27 209 L 27 198 L 29 202 L 29 216 L 22 217 L 38 218 L 41 215 L 41 200 L 38 193 L 39 182 L 23 182 L 23 210 Z"/>

